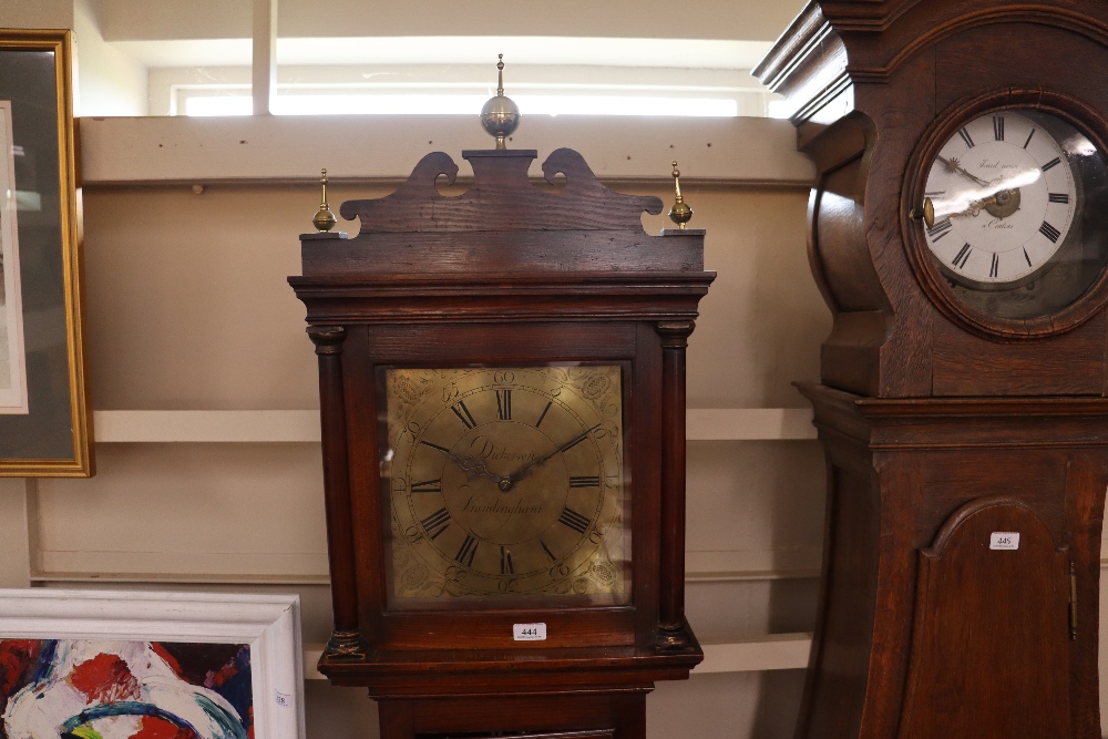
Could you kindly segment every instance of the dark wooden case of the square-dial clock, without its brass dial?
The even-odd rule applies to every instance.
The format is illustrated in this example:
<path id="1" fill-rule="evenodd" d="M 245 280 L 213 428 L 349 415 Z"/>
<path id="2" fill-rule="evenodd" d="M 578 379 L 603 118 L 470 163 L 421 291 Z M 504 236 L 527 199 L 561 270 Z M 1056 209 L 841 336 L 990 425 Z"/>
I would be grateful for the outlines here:
<path id="1" fill-rule="evenodd" d="M 301 236 L 304 275 L 289 278 L 319 358 L 335 617 L 319 670 L 369 688 L 382 737 L 642 737 L 654 681 L 702 659 L 684 617 L 684 556 L 685 348 L 715 278 L 704 232 L 647 235 L 642 213 L 661 201 L 607 189 L 572 150 L 542 165 L 546 188 L 529 179 L 534 151 L 462 156 L 474 172 L 464 194 L 438 192 L 458 166 L 428 154 L 392 195 L 341 206 L 357 237 Z M 630 603 L 390 609 L 376 368 L 560 361 L 630 368 Z M 535 622 L 545 642 L 513 642 L 513 624 Z"/>

